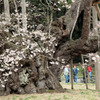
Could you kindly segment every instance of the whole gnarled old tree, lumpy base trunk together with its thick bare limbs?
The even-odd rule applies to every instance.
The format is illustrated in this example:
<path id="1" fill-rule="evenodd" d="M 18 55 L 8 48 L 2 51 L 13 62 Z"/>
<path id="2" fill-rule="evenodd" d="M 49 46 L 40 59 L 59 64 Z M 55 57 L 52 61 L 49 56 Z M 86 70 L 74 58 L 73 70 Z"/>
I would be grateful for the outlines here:
<path id="1" fill-rule="evenodd" d="M 78 1 L 78 0 L 77 0 Z M 65 59 L 66 64 L 75 56 L 80 54 L 96 52 L 98 50 L 97 40 L 88 40 L 90 30 L 90 10 L 92 0 L 82 0 L 81 3 L 75 2 L 72 8 L 57 21 L 53 22 L 51 33 L 56 35 L 58 46 L 55 47 L 54 58 Z M 66 40 L 60 43 L 64 38 L 68 38 L 77 15 L 77 4 L 80 4 L 79 14 L 84 10 L 84 20 L 82 35 L 76 40 Z M 66 27 L 66 28 L 63 28 Z M 1 47 L 2 48 L 2 47 Z M 48 59 L 39 55 L 36 60 L 20 61 L 23 66 L 19 66 L 18 72 L 14 72 L 6 84 L 6 87 L 0 87 L 0 95 L 10 93 L 36 93 L 46 90 L 64 91 L 57 78 L 59 78 L 61 66 L 53 65 L 49 67 Z"/>

